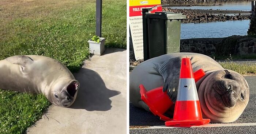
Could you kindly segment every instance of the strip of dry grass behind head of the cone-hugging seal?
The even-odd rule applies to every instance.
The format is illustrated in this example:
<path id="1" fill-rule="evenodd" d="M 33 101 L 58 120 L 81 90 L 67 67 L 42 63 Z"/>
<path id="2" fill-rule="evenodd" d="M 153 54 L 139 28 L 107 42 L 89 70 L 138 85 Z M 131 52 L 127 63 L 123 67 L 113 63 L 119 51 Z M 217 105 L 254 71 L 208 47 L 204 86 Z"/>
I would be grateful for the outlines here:
<path id="1" fill-rule="evenodd" d="M 256 64 L 253 63 L 219 62 L 219 64 L 223 68 L 236 71 L 241 75 L 256 75 Z"/>

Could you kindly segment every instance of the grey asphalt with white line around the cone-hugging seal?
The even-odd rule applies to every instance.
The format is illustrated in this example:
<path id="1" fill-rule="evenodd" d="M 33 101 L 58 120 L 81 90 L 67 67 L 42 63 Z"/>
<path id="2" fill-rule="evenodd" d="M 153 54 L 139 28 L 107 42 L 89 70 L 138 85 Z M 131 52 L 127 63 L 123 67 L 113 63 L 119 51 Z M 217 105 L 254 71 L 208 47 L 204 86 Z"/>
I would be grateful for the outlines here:
<path id="1" fill-rule="evenodd" d="M 256 76 L 245 76 L 250 87 L 250 98 L 247 107 L 237 121 L 232 123 L 256 123 Z M 135 107 L 130 103 L 129 106 L 129 124 L 130 126 L 163 126 L 164 121 L 153 114 Z M 162 129 L 132 129 L 130 134 L 249 134 L 256 133 L 256 126 L 226 126 L 226 127 L 193 127 L 193 128 L 162 128 Z"/>

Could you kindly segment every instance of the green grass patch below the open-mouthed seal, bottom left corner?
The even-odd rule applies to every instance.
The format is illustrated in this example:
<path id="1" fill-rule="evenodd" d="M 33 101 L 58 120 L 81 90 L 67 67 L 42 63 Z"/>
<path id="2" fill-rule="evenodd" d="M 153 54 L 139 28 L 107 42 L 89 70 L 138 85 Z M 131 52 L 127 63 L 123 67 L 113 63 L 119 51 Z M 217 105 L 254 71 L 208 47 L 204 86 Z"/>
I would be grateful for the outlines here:
<path id="1" fill-rule="evenodd" d="M 44 95 L 8 91 L 0 91 L 0 104 L 1 134 L 22 134 L 49 106 Z"/>

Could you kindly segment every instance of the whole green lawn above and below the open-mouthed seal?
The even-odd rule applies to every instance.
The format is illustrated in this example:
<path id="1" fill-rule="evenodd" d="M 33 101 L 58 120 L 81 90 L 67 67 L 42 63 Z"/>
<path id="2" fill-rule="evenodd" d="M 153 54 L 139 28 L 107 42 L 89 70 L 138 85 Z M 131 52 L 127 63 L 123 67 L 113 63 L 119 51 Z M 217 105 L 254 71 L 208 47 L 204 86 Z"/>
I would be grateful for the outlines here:
<path id="1" fill-rule="evenodd" d="M 44 55 L 72 72 L 89 56 L 95 35 L 95 0 L 1 0 L 0 60 Z M 104 0 L 106 46 L 126 48 L 126 0 Z M 49 106 L 43 95 L 0 90 L 0 134 L 21 134 Z"/>

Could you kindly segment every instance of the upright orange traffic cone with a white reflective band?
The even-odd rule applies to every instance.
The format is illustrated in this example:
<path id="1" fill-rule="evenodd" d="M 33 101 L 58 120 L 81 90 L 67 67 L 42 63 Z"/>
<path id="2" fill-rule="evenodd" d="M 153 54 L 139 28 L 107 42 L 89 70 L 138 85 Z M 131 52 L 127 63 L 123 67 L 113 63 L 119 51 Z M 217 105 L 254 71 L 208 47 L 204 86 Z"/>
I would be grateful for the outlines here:
<path id="1" fill-rule="evenodd" d="M 182 58 L 180 82 L 173 119 L 165 122 L 166 126 L 208 124 L 210 119 L 203 119 L 196 90 L 196 83 L 189 58 Z"/>

